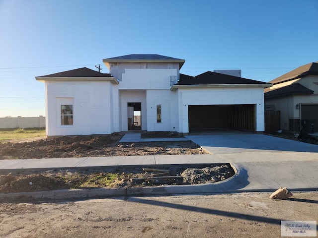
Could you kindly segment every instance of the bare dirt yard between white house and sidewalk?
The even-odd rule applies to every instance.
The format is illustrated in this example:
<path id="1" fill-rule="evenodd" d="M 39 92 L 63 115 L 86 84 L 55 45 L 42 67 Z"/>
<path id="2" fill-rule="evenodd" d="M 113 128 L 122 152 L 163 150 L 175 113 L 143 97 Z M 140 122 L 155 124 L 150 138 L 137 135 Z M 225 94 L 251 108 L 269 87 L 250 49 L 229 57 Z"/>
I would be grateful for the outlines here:
<path id="1" fill-rule="evenodd" d="M 190 141 L 119 144 L 122 136 L 122 133 L 105 136 L 78 135 L 0 143 L 0 159 L 206 154 Z"/>

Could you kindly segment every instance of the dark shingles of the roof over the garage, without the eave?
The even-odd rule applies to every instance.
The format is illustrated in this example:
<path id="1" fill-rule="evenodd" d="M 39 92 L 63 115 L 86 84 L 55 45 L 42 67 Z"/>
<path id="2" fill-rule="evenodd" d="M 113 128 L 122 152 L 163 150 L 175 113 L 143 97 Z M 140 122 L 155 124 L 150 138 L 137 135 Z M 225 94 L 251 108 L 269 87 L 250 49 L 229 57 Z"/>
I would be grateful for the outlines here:
<path id="1" fill-rule="evenodd" d="M 247 79 L 247 78 L 236 77 L 236 76 L 232 76 L 228 74 L 207 71 L 195 77 L 185 75 L 185 77 L 182 77 L 182 80 L 180 76 L 180 81 L 176 85 L 200 85 L 200 84 L 213 85 L 213 84 L 267 84 L 267 83 L 252 80 L 252 79 Z"/>

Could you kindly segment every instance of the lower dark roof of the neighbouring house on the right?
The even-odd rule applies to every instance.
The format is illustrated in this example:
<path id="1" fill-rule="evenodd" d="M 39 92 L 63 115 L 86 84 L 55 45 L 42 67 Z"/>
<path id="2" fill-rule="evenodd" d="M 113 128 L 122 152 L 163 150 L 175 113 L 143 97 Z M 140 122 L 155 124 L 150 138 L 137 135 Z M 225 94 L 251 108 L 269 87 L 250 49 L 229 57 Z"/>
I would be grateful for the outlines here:
<path id="1" fill-rule="evenodd" d="M 291 85 L 271 90 L 264 94 L 265 99 L 284 97 L 289 95 L 310 95 L 314 94 L 313 90 L 306 88 L 300 83 L 293 83 Z"/>

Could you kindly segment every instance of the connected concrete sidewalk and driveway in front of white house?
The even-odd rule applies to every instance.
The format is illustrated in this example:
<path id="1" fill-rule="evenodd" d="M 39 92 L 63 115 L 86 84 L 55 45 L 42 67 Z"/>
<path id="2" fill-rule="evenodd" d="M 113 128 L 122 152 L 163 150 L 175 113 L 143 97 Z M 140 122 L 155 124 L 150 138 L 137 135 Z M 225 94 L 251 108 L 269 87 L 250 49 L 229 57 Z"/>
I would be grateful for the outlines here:
<path id="1" fill-rule="evenodd" d="M 0 160 L 0 170 L 231 163 L 238 173 L 221 182 L 128 188 L 121 192 L 126 195 L 247 192 L 273 191 L 280 186 L 292 191 L 318 190 L 317 145 L 257 134 L 193 135 L 186 138 L 212 154 Z"/>

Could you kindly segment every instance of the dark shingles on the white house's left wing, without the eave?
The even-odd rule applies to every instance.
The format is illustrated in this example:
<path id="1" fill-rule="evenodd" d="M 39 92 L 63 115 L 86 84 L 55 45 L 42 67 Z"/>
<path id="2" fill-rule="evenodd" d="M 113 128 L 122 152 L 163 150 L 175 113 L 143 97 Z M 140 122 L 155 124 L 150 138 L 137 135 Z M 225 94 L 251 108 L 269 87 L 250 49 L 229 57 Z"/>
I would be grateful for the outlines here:
<path id="1" fill-rule="evenodd" d="M 77 68 L 64 72 L 43 75 L 39 77 L 110 77 L 110 73 L 100 73 L 90 68 Z"/>

